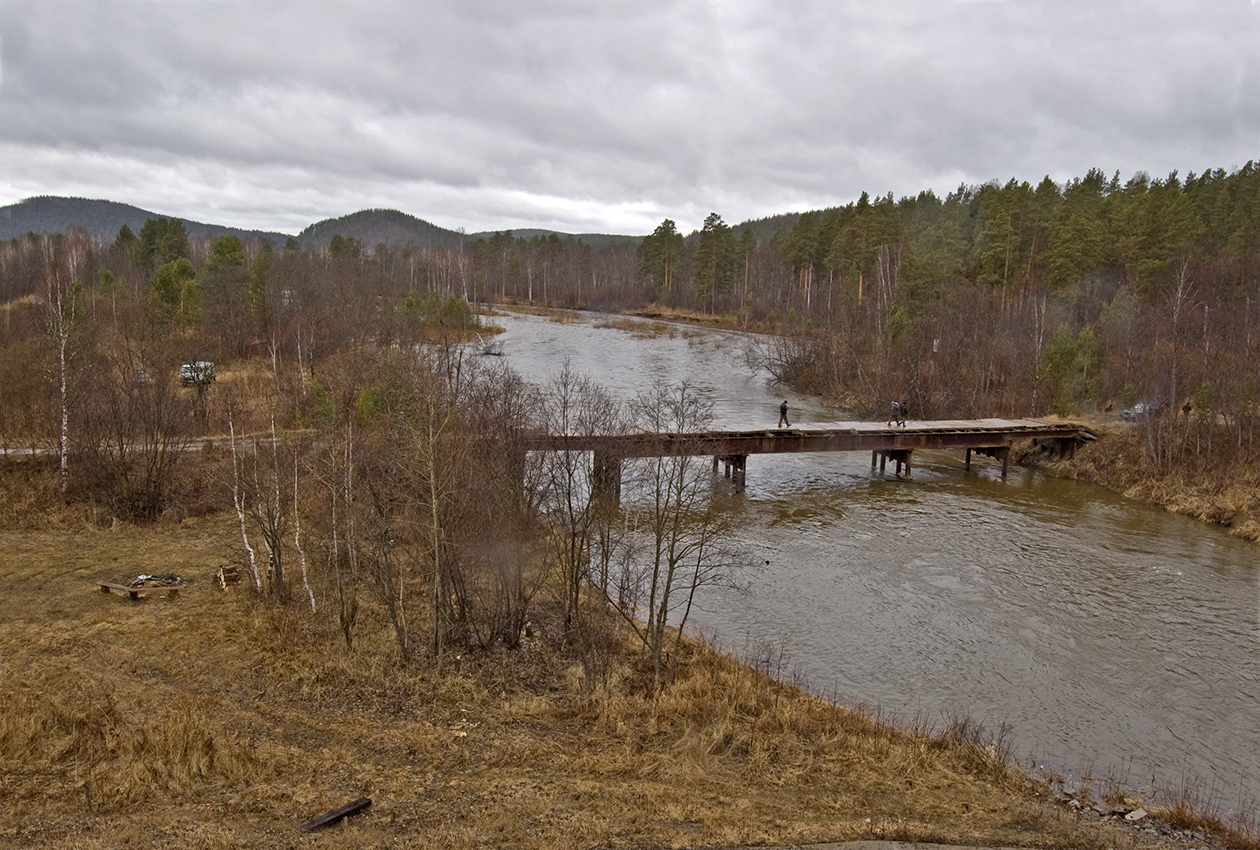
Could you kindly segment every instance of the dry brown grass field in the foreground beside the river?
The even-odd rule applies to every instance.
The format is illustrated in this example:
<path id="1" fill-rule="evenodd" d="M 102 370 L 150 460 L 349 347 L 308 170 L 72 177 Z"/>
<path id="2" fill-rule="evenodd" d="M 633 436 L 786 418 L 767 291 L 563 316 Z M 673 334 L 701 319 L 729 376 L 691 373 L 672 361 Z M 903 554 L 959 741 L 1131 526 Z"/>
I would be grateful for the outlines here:
<path id="1" fill-rule="evenodd" d="M 350 651 L 323 611 L 220 589 L 234 516 L 19 523 L 24 475 L 0 500 L 3 847 L 1135 846 L 965 727 L 898 730 L 699 643 L 655 693 L 629 645 L 596 684 L 541 611 L 519 650 L 401 669 L 383 626 Z M 142 573 L 190 583 L 96 584 Z"/>

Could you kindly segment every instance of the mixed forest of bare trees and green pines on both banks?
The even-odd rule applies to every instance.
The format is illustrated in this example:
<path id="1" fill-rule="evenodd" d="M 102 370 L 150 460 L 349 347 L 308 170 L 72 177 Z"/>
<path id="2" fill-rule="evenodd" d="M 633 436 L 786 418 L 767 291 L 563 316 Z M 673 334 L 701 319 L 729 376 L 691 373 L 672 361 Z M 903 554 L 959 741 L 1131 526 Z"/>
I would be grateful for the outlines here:
<path id="1" fill-rule="evenodd" d="M 190 241 L 161 218 L 112 241 L 33 233 L 0 243 L 0 450 L 55 461 L 58 492 L 102 519 L 234 511 L 256 589 L 328 612 L 346 645 L 370 598 L 403 660 L 510 646 L 554 579 L 590 664 L 600 630 L 577 626 L 596 592 L 659 674 L 664 623 L 736 557 L 713 543 L 703 465 L 646 465 L 639 507 L 611 510 L 587 465 L 520 445 L 698 429 L 707 412 L 687 387 L 619 402 L 582 375 L 466 356 L 491 332 L 480 314 L 674 311 L 769 331 L 752 365 L 854 417 L 888 399 L 915 418 L 1137 409 L 1143 462 L 1167 475 L 1255 465 L 1257 269 L 1252 164 L 863 194 L 740 227 L 713 213 L 601 247 L 503 232 L 302 248 Z M 181 387 L 195 361 L 217 380 Z M 193 455 L 210 471 L 188 475 Z"/>

